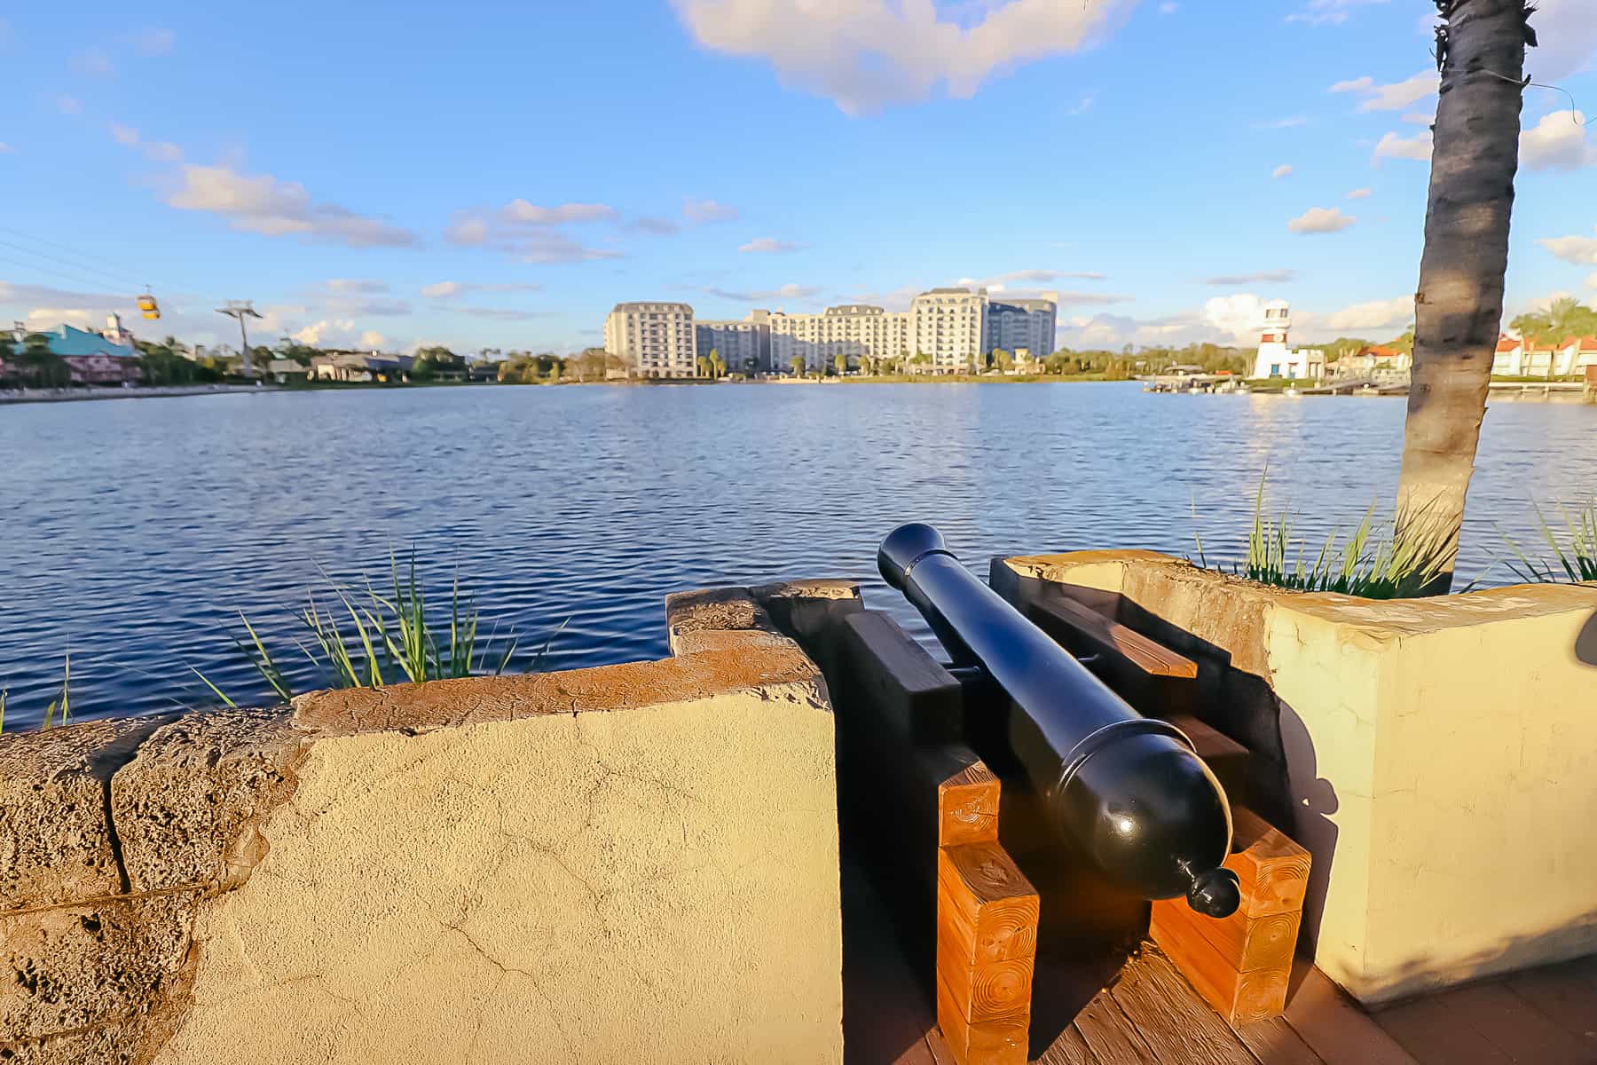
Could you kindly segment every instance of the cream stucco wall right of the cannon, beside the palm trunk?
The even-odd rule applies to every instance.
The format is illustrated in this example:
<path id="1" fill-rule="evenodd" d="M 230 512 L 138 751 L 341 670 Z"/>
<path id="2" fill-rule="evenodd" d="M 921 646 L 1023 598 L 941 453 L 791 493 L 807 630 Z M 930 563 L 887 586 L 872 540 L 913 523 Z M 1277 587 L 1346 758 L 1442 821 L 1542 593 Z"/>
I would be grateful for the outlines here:
<path id="1" fill-rule="evenodd" d="M 1268 683 L 1274 720 L 1225 720 L 1234 682 L 1204 712 L 1276 738 L 1314 853 L 1305 931 L 1361 1000 L 1597 950 L 1597 586 L 1383 604 L 1151 552 L 1006 565 L 1119 592 L 1150 634 Z"/>

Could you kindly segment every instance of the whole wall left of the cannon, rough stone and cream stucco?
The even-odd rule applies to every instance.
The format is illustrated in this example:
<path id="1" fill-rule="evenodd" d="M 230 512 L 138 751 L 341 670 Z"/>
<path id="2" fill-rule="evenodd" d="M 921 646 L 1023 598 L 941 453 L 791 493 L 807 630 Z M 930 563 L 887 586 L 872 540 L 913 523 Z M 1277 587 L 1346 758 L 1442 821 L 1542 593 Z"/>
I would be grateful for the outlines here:
<path id="1" fill-rule="evenodd" d="M 674 658 L 0 739 L 0 1062 L 840 1062 L 826 688 Z M 773 610 L 767 610 L 773 604 Z"/>

